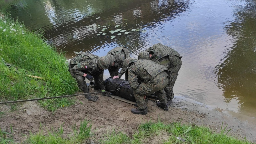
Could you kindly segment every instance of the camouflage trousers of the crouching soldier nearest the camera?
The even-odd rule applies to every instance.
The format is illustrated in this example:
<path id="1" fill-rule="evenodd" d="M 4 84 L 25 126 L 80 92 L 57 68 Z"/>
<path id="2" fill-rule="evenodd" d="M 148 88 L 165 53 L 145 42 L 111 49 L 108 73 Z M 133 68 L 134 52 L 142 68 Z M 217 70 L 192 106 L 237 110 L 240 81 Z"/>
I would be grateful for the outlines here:
<path id="1" fill-rule="evenodd" d="M 168 74 L 163 71 L 153 78 L 152 81 L 142 83 L 137 89 L 133 90 L 134 97 L 136 99 L 139 109 L 146 108 L 146 102 L 144 96 L 151 95 L 155 92 L 158 100 L 167 104 L 167 98 L 164 91 L 165 86 L 168 84 Z"/>

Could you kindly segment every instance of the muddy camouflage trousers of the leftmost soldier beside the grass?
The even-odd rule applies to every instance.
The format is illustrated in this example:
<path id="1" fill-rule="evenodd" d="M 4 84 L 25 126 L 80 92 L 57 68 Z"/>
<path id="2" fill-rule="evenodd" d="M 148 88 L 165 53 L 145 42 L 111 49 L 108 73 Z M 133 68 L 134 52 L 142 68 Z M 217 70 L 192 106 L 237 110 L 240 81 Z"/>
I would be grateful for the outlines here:
<path id="1" fill-rule="evenodd" d="M 73 73 L 71 70 L 69 71 L 71 76 L 77 80 L 78 87 L 84 92 L 88 92 L 87 84 L 85 81 L 85 77 L 81 77 L 75 73 Z M 104 71 L 100 71 L 94 74 L 90 74 L 94 78 L 95 86 L 94 89 L 105 89 L 104 81 L 103 81 L 103 73 Z"/>

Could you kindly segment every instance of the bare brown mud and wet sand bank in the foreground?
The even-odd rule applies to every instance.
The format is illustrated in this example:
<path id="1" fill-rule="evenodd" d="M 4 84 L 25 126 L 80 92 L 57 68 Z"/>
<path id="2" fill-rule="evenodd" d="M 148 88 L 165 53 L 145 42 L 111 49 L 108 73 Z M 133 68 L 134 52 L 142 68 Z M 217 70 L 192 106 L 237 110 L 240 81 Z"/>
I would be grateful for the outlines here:
<path id="1" fill-rule="evenodd" d="M 38 106 L 36 101 L 26 102 L 15 111 L 10 111 L 8 106 L 2 105 L 0 111 L 4 112 L 4 115 L 0 117 L 0 127 L 10 132 L 12 125 L 14 140 L 20 142 L 26 139 L 24 135 L 29 135 L 30 131 L 38 132 L 40 123 L 46 133 L 47 130 L 58 129 L 62 125 L 65 134 L 68 135 L 74 124 L 79 127 L 80 121 L 87 119 L 92 121 L 92 140 L 96 141 L 113 129 L 131 136 L 139 124 L 149 120 L 161 119 L 164 123 L 181 121 L 185 124 L 204 125 L 217 132 L 220 131 L 223 121 L 223 126 L 228 125 L 227 129 L 231 128 L 230 135 L 239 139 L 246 137 L 256 142 L 255 118 L 248 117 L 248 120 L 244 120 L 244 117 L 232 115 L 227 111 L 221 112 L 190 99 L 175 97 L 168 111 L 163 111 L 156 107 L 155 102 L 148 100 L 148 114 L 134 115 L 131 113 L 133 105 L 110 97 L 98 96 L 97 102 L 87 101 L 84 96 L 77 96 L 78 101 L 75 105 L 60 108 L 53 113 Z"/>

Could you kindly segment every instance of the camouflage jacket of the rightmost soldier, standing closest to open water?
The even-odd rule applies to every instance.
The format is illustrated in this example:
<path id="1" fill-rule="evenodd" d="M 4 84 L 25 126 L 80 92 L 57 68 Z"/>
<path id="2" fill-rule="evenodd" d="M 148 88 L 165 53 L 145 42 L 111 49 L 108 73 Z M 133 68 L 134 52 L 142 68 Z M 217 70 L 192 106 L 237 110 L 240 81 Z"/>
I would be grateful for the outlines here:
<path id="1" fill-rule="evenodd" d="M 168 69 L 171 69 L 172 67 L 175 67 L 180 63 L 179 61 L 172 60 L 173 55 L 179 57 L 180 61 L 182 58 L 176 50 L 160 43 L 154 44 L 152 47 L 148 48 L 146 52 L 149 52 L 152 55 L 152 57 L 150 57 L 150 60 L 158 64 L 164 65 Z"/>

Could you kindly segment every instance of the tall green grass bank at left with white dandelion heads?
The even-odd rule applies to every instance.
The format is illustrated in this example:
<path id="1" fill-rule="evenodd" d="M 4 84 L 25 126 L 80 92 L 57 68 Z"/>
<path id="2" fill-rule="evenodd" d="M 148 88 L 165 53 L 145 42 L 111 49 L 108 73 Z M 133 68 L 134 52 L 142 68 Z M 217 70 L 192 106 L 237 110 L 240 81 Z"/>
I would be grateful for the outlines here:
<path id="1" fill-rule="evenodd" d="M 42 33 L 30 32 L 23 23 L 14 22 L 8 16 L 0 17 L 0 26 L 1 101 L 70 95 L 78 91 L 75 79 L 68 72 L 64 53 L 46 44 Z M 7 63 L 11 67 L 6 66 Z M 39 102 L 54 111 L 62 105 L 72 105 L 74 99 Z"/>

